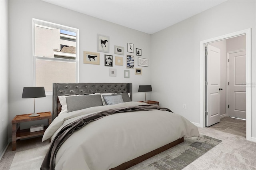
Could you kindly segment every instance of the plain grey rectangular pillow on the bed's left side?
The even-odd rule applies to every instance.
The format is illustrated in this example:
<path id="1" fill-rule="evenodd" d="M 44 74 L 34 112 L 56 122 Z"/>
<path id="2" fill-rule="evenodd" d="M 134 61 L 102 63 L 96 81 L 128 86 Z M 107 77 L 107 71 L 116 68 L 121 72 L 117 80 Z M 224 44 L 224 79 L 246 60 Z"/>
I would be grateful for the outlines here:
<path id="1" fill-rule="evenodd" d="M 100 95 L 81 95 L 66 97 L 68 112 L 86 109 L 88 107 L 102 106 Z"/>

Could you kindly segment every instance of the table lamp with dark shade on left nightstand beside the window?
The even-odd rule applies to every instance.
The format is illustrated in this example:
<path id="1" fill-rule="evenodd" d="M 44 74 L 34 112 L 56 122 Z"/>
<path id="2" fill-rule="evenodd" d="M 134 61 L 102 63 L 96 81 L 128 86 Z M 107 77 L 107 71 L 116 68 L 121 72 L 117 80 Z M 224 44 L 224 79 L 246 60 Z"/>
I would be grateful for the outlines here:
<path id="1" fill-rule="evenodd" d="M 29 117 L 40 116 L 35 113 L 35 98 L 45 97 L 44 87 L 24 87 L 22 98 L 34 98 L 34 113 L 29 115 Z"/>

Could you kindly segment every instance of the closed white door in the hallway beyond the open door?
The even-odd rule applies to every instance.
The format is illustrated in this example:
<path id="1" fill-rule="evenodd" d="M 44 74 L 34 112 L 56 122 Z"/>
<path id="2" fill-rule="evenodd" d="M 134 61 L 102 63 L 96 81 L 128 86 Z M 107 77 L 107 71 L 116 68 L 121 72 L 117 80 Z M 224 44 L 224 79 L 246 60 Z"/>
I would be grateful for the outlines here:
<path id="1" fill-rule="evenodd" d="M 246 119 L 246 51 L 229 53 L 228 116 Z"/>

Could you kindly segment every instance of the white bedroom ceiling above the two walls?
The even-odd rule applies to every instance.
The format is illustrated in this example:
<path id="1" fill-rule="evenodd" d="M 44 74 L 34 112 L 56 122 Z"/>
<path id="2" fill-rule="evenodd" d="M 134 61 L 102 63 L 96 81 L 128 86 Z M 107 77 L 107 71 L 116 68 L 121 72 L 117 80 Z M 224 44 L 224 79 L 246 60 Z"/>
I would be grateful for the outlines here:
<path id="1" fill-rule="evenodd" d="M 226 0 L 43 0 L 134 30 L 154 34 Z"/>

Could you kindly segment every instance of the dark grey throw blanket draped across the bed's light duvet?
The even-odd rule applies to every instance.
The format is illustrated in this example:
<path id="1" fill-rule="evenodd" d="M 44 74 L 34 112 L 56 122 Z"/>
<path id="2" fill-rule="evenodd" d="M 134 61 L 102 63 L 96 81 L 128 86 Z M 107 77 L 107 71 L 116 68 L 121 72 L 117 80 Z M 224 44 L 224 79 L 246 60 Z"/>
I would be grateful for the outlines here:
<path id="1" fill-rule="evenodd" d="M 172 112 L 170 109 L 158 107 L 156 105 L 139 105 L 133 107 L 120 107 L 115 109 L 109 109 L 105 111 L 100 111 L 92 115 L 86 115 L 68 125 L 63 127 L 60 132 L 55 136 L 54 140 L 51 142 L 48 152 L 44 157 L 40 170 L 54 170 L 55 167 L 55 156 L 62 145 L 62 143 L 76 130 L 86 126 L 92 121 L 96 121 L 108 115 L 122 112 L 131 112 L 131 111 L 151 111 L 151 110 L 164 110 Z"/>

